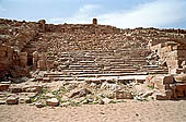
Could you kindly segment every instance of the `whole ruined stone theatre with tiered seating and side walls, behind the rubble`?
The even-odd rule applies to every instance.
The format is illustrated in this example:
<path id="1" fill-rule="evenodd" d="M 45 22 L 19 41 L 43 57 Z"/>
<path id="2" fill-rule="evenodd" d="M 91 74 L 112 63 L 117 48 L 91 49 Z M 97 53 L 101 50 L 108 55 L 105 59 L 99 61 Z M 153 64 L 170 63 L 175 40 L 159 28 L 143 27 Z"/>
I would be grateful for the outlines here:
<path id="1" fill-rule="evenodd" d="M 1 19 L 0 81 L 94 83 L 146 75 L 130 80 L 155 87 L 156 99 L 176 99 L 186 96 L 184 75 L 177 75 L 186 72 L 185 41 L 184 29 L 120 29 L 96 19 L 59 25 Z"/>

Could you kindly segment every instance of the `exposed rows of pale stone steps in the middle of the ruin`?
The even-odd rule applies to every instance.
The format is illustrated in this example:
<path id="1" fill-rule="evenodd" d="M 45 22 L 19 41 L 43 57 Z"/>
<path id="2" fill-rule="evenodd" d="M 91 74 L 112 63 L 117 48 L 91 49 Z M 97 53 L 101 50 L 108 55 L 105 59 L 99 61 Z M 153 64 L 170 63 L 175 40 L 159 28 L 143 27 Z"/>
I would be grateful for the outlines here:
<path id="1" fill-rule="evenodd" d="M 148 49 L 61 52 L 58 72 L 46 72 L 44 77 L 54 81 L 84 81 L 101 77 L 104 77 L 103 80 L 118 78 L 128 75 L 167 74 L 167 68 L 148 64 L 148 59 L 142 56 L 147 52 L 149 52 Z"/>

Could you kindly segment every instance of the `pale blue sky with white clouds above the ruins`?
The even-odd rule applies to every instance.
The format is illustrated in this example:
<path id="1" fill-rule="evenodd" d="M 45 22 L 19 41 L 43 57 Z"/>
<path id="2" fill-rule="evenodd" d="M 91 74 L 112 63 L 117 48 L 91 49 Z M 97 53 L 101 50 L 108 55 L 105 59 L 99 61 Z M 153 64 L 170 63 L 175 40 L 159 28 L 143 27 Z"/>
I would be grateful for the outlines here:
<path id="1" fill-rule="evenodd" d="M 119 28 L 186 28 L 186 0 L 0 0 L 0 17 Z"/>

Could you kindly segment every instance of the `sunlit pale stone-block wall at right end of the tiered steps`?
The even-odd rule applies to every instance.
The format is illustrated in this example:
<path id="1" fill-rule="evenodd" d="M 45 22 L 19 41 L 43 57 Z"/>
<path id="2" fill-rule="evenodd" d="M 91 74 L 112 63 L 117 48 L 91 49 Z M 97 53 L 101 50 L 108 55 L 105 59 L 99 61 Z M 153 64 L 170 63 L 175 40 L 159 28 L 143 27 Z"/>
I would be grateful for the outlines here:
<path id="1" fill-rule="evenodd" d="M 175 42 L 163 42 L 150 46 L 160 57 L 160 63 L 166 64 L 170 74 L 181 74 L 185 72 L 186 46 Z"/>

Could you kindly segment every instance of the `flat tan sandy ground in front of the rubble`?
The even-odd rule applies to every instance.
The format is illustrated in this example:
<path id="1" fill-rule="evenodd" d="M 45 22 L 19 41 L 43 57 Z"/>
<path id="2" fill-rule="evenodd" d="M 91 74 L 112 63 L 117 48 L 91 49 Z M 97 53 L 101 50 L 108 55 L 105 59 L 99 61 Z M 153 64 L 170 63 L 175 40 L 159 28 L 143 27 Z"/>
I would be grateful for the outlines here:
<path id="1" fill-rule="evenodd" d="M 0 106 L 0 122 L 186 122 L 186 101 L 133 101 L 67 108 Z"/>

